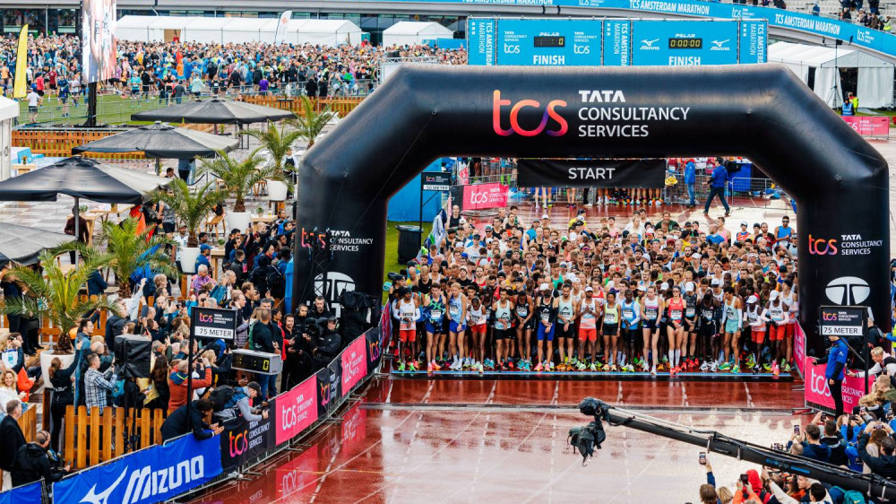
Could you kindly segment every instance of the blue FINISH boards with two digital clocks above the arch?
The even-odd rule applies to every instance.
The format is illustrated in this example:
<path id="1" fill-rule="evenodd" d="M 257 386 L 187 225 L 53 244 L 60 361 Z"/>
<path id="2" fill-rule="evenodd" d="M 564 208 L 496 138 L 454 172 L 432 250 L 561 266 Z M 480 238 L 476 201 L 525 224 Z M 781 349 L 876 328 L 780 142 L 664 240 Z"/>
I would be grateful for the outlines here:
<path id="1" fill-rule="evenodd" d="M 470 65 L 765 63 L 764 20 L 470 18 Z"/>

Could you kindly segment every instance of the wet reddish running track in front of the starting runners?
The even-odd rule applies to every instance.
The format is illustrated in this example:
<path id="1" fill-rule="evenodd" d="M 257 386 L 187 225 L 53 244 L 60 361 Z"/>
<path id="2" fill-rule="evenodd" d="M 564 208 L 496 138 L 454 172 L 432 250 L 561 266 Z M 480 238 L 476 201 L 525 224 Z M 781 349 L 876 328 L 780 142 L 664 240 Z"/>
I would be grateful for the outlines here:
<path id="1" fill-rule="evenodd" d="M 797 384 L 798 385 L 798 384 Z M 706 482 L 700 448 L 624 427 L 590 465 L 566 444 L 585 395 L 758 444 L 786 442 L 790 383 L 582 383 L 381 378 L 302 451 L 194 502 L 684 503 Z M 806 418 L 803 418 L 806 421 Z M 719 485 L 754 465 L 710 456 Z"/>

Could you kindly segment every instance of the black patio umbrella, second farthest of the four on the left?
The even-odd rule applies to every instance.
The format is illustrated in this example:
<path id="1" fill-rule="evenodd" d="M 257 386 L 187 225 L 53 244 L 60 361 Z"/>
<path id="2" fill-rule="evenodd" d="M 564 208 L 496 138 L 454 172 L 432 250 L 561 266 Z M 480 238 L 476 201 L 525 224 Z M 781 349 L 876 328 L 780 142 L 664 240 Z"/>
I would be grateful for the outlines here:
<path id="1" fill-rule="evenodd" d="M 156 121 L 153 125 L 140 126 L 85 143 L 72 149 L 72 152 L 143 152 L 147 157 L 156 158 L 158 175 L 160 158 L 189 160 L 197 156 L 209 157 L 218 151 L 233 151 L 238 144 L 237 140 Z"/>

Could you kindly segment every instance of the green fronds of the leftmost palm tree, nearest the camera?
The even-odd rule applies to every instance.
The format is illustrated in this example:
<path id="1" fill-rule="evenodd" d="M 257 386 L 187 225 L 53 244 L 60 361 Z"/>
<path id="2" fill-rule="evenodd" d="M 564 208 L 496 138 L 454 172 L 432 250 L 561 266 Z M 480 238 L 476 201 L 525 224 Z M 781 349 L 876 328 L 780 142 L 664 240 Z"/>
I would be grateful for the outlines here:
<path id="1" fill-rule="evenodd" d="M 63 272 L 56 263 L 56 256 L 70 250 L 77 250 L 84 262 Z M 24 287 L 25 295 L 0 303 L 0 314 L 46 317 L 66 335 L 87 313 L 103 308 L 117 311 L 116 304 L 104 295 L 92 300 L 81 295 L 81 289 L 90 274 L 110 264 L 111 256 L 108 254 L 82 243 L 72 242 L 55 250 L 45 250 L 40 254 L 39 260 L 43 274 L 23 265 L 15 265 L 6 273 L 7 279 L 14 279 Z"/>

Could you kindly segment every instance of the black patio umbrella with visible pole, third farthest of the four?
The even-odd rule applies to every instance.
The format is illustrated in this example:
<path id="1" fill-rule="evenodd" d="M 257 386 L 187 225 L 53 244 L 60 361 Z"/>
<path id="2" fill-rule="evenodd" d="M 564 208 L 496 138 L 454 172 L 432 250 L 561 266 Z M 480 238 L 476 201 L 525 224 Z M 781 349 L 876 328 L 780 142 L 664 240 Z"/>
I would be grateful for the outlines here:
<path id="1" fill-rule="evenodd" d="M 74 236 L 78 236 L 81 198 L 99 203 L 142 204 L 171 180 L 72 157 L 0 182 L 0 201 L 56 201 L 59 195 L 72 196 Z"/>

